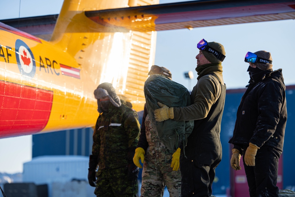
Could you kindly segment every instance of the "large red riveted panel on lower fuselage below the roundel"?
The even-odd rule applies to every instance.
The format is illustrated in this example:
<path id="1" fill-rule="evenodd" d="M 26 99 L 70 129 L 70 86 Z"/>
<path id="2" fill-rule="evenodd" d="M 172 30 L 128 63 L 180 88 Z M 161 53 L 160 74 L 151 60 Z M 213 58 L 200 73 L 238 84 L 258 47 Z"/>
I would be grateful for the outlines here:
<path id="1" fill-rule="evenodd" d="M 0 80 L 0 138 L 42 131 L 52 101 L 52 91 Z"/>

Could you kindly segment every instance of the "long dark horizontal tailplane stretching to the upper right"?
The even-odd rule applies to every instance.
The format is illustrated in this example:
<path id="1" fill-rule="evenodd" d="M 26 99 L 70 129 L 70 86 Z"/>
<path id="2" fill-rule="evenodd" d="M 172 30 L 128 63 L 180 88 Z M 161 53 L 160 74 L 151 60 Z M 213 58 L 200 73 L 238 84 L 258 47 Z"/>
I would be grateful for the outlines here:
<path id="1" fill-rule="evenodd" d="M 200 0 L 86 11 L 85 15 L 102 32 L 146 32 L 295 19 L 295 1 Z"/>

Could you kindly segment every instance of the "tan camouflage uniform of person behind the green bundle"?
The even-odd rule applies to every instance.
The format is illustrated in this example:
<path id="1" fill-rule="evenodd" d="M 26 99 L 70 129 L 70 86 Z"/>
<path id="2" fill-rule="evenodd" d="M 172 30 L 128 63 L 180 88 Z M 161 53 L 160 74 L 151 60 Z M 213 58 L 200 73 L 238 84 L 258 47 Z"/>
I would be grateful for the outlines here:
<path id="1" fill-rule="evenodd" d="M 171 154 L 165 154 L 166 147 L 158 139 L 157 133 L 152 128 L 148 114 L 143 121 L 142 124 L 145 125 L 145 136 L 149 147 L 145 152 L 145 161 L 142 169 L 141 196 L 162 197 L 166 185 L 170 193 L 170 197 L 179 197 L 181 193 L 180 171 L 172 170 L 170 167 L 171 161 L 170 163 L 165 162 L 165 157 L 167 159 L 172 159 Z M 140 147 L 140 143 L 137 147 Z"/>

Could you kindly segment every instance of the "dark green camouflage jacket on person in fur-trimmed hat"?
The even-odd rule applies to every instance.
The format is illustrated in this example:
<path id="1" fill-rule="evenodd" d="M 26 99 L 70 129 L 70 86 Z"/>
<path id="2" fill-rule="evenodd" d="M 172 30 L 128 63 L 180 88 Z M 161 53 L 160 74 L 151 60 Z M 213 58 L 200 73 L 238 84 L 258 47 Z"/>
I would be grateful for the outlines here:
<path id="1" fill-rule="evenodd" d="M 135 110 L 122 104 L 109 106 L 109 113 L 102 113 L 93 133 L 92 155 L 99 155 L 100 169 L 127 165 L 127 152 L 134 152 L 138 142 L 140 123 Z"/>

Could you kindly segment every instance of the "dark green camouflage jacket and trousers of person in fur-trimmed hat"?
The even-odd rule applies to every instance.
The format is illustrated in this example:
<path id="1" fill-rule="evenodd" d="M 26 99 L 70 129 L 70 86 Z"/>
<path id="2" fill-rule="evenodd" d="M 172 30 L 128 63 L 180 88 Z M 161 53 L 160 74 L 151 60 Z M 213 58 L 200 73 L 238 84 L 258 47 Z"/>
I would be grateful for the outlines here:
<path id="1" fill-rule="evenodd" d="M 138 142 L 140 124 L 137 112 L 122 104 L 109 105 L 99 115 L 93 133 L 92 154 L 99 155 L 96 196 L 136 196 L 137 180 L 127 179 L 127 152 Z"/>

